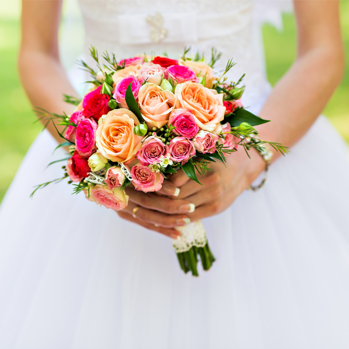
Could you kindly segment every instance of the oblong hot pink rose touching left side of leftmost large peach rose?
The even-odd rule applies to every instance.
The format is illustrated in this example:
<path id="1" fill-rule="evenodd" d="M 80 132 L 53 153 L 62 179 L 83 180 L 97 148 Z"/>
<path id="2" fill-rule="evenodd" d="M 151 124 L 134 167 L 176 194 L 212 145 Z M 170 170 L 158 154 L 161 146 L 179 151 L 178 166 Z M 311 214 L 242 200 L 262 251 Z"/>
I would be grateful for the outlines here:
<path id="1" fill-rule="evenodd" d="M 97 122 L 90 118 L 80 121 L 77 125 L 75 149 L 81 156 L 91 156 L 96 149 L 97 128 Z"/>

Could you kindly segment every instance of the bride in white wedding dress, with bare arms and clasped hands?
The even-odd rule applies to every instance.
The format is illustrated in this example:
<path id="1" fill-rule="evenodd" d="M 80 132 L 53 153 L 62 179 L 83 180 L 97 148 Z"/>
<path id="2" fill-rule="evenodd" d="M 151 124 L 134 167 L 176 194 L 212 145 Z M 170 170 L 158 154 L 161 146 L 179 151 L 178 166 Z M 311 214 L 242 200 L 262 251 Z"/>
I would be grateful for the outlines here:
<path id="1" fill-rule="evenodd" d="M 185 45 L 206 54 L 215 46 L 216 69 L 233 57 L 229 79 L 246 73 L 244 105 L 271 120 L 258 126 L 261 138 L 291 153 L 274 153 L 257 192 L 245 189 L 265 163 L 238 151 L 227 167 L 213 164 L 204 187 L 183 173 L 164 184 L 167 195 L 128 187 L 117 215 L 70 195 L 66 183 L 29 199 L 33 185 L 61 176 L 61 163 L 42 171 L 65 157 L 62 148 L 52 157 L 60 140 L 49 125 L 53 137 L 38 136 L 1 206 L 1 348 L 349 347 L 348 149 L 318 117 L 343 73 L 338 2 L 294 2 L 297 58 L 272 91 L 260 5 L 80 2 L 86 44 L 100 53 L 179 58 Z M 76 92 L 59 60 L 60 9 L 60 1 L 23 1 L 19 69 L 33 106 L 69 114 L 62 94 Z M 167 36 L 155 43 L 147 16 L 157 12 Z M 180 270 L 168 238 L 183 218 L 203 220 L 216 257 L 198 278 Z"/>

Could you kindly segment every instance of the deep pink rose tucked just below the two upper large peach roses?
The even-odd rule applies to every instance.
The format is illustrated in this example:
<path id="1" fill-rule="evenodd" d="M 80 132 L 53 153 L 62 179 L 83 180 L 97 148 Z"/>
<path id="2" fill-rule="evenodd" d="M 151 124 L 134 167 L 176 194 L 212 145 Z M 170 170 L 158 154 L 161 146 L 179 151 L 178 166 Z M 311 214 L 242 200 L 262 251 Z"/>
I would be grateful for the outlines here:
<path id="1" fill-rule="evenodd" d="M 193 138 L 199 132 L 199 126 L 196 125 L 193 114 L 185 108 L 175 109 L 170 116 L 169 124 L 173 132 L 186 138 Z"/>

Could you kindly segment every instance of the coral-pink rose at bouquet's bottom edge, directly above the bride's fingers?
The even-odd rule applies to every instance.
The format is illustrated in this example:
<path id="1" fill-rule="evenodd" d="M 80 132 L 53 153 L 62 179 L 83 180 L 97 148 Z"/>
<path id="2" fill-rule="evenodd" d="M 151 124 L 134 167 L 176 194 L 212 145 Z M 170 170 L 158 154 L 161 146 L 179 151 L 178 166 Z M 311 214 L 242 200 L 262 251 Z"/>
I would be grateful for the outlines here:
<path id="1" fill-rule="evenodd" d="M 135 189 L 144 193 L 160 190 L 161 183 L 164 181 L 164 177 L 160 172 L 152 172 L 149 167 L 140 163 L 132 167 L 131 176 Z"/>

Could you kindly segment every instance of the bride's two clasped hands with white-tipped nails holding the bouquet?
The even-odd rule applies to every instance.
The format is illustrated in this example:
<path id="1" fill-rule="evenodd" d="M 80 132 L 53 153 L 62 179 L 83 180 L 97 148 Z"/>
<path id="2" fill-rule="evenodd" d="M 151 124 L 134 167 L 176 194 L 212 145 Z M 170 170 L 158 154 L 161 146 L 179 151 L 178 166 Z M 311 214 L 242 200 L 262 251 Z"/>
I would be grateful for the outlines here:
<path id="1" fill-rule="evenodd" d="M 258 177 L 265 162 L 256 151 L 249 154 L 251 159 L 243 149 L 231 154 L 227 157 L 227 167 L 221 162 L 211 162 L 212 171 L 204 176 L 198 175 L 202 185 L 180 170 L 169 176 L 169 181 L 165 180 L 157 193 L 143 193 L 128 187 L 128 206 L 118 214 L 145 228 L 176 238 L 179 233 L 173 228 L 187 224 L 188 218 L 194 222 L 224 211 Z M 178 193 L 176 188 L 180 189 L 178 196 L 173 195 Z M 140 208 L 134 218 L 132 211 L 136 206 Z"/>

